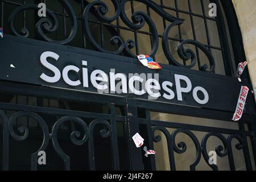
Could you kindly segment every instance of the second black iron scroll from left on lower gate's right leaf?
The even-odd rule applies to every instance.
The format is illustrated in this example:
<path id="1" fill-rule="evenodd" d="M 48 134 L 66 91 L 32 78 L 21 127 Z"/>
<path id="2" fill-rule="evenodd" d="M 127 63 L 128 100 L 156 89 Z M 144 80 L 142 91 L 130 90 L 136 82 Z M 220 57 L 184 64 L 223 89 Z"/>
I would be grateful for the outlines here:
<path id="1" fill-rule="evenodd" d="M 193 143 L 195 144 L 196 159 L 194 160 L 193 164 L 191 164 L 189 166 L 191 171 L 195 171 L 196 166 L 197 166 L 197 164 L 199 164 L 200 159 L 201 159 L 201 146 L 200 146 L 199 140 L 196 138 L 196 135 L 193 134 L 191 131 L 189 131 L 187 129 L 177 129 L 176 131 L 174 131 L 172 133 L 172 143 L 174 145 L 174 151 L 177 154 L 183 154 L 187 150 L 187 145 L 184 142 L 179 142 L 176 146 L 175 138 L 176 138 L 176 135 L 179 133 L 184 133 L 184 134 L 188 135 L 188 137 L 190 137 L 192 139 Z M 180 148 L 181 148 L 181 150 L 180 150 Z"/>

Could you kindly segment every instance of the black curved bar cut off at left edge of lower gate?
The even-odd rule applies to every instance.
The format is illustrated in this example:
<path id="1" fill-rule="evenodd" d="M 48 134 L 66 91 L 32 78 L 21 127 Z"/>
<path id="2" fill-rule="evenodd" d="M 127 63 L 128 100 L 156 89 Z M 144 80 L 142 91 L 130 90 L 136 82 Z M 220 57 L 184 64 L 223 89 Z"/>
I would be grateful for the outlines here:
<path id="1" fill-rule="evenodd" d="M 9 122 L 6 114 L 0 110 L 0 120 L 3 121 L 3 171 L 9 169 Z"/>

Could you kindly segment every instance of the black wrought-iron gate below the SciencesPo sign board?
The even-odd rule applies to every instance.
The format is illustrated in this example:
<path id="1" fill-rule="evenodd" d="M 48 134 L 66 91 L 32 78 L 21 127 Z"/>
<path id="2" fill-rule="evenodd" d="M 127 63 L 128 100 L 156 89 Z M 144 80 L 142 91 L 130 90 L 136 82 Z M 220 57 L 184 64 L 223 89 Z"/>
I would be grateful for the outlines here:
<path id="1" fill-rule="evenodd" d="M 110 97 L 100 94 L 80 93 L 72 90 L 61 90 L 56 88 L 38 87 L 32 85 L 1 82 L 1 93 L 9 95 L 16 94 L 38 98 L 56 99 L 58 101 L 69 101 L 79 105 L 84 103 L 84 110 L 60 109 L 43 106 L 37 103 L 32 106 L 27 102 L 24 104 L 0 103 L 1 121 L 3 121 L 2 132 L 2 166 L 8 169 L 132 169 L 132 170 L 155 170 L 155 156 L 146 158 L 142 147 L 137 148 L 131 137 L 140 133 L 145 139 L 145 145 L 154 149 L 154 142 L 161 142 L 155 131 L 162 131 L 167 140 L 168 157 L 170 169 L 176 169 L 176 154 L 183 154 L 187 150 L 186 143 L 176 143 L 179 133 L 186 134 L 192 139 L 196 148 L 196 158 L 189 166 L 195 170 L 200 160 L 208 162 L 209 156 L 207 143 L 210 137 L 221 140 L 222 146 L 216 146 L 217 155 L 221 158 L 228 156 L 231 170 L 235 170 L 234 156 L 232 152 L 232 140 L 237 139 L 236 148 L 242 150 L 246 169 L 253 169 L 250 156 L 255 156 L 255 117 L 245 115 L 239 122 L 239 130 L 224 129 L 218 127 L 199 126 L 178 123 L 175 121 L 164 122 L 150 118 L 150 111 L 172 113 L 180 115 L 197 116 L 203 118 L 214 118 L 224 121 L 230 119 L 230 114 L 222 111 L 205 110 L 199 108 L 187 108 L 185 106 L 163 104 L 152 101 L 135 100 L 132 98 Z M 6 95 L 7 97 L 7 95 Z M 27 97 L 28 98 L 28 97 Z M 86 106 L 87 105 L 87 106 Z M 89 107 L 88 107 L 89 106 Z M 106 113 L 102 111 L 90 111 L 90 107 L 106 107 Z M 7 117 L 7 115 L 9 117 Z M 18 118 L 33 118 L 37 125 L 32 127 L 29 119 L 24 119 L 21 125 Z M 63 123 L 71 122 L 77 125 L 67 127 Z M 245 124 L 249 130 L 245 129 Z M 100 126 L 100 127 L 97 127 Z M 172 133 L 167 129 L 175 129 Z M 41 131 L 40 131 L 41 130 Z M 120 131 L 122 130 L 122 134 Z M 198 139 L 192 131 L 203 131 L 205 135 L 202 140 Z M 119 134 L 118 134 L 119 132 Z M 40 133 L 40 137 L 36 137 Z M 70 135 L 69 143 L 65 146 L 64 136 Z M 228 137 L 224 137 L 227 135 Z M 32 137 L 31 137 L 32 136 Z M 9 140 L 10 138 L 10 140 Z M 253 146 L 253 154 L 249 152 L 248 140 Z M 39 148 L 29 146 L 36 140 Z M 75 146 L 80 146 L 76 148 Z M 16 146 L 16 147 L 15 147 Z M 73 147 L 72 147 L 73 146 Z M 28 150 L 30 148 L 30 150 Z M 27 149 L 27 150 L 26 150 Z M 36 150 L 35 150 L 36 149 Z M 25 151 L 22 151 L 25 150 Z M 156 152 L 157 148 L 155 148 Z M 38 164 L 38 152 L 46 151 L 47 165 Z M 28 152 L 24 154 L 24 152 Z M 55 154 L 54 154 L 55 153 Z M 57 155 L 58 156 L 57 156 Z M 72 156 L 69 156 L 72 155 Z M 75 157 L 74 157 L 75 155 Z M 77 155 L 77 156 L 76 156 Z M 201 159 L 203 155 L 204 159 Z M 27 157 L 30 156 L 30 163 Z M 21 159 L 20 159 L 21 158 Z M 26 159 L 23 161 L 23 159 Z M 59 160 L 60 159 L 60 160 Z M 57 165 L 54 165 L 58 163 Z M 22 165 L 24 164 L 24 165 Z M 27 165 L 25 165 L 27 164 Z M 72 167 L 73 164 L 73 167 Z M 215 165 L 209 165 L 212 169 L 218 169 Z"/>

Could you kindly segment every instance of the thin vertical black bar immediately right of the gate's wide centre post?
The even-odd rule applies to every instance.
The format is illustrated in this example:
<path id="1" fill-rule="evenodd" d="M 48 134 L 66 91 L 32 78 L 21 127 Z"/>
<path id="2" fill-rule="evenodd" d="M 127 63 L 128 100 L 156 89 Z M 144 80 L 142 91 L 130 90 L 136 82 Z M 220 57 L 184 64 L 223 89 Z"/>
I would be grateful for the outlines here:
<path id="1" fill-rule="evenodd" d="M 151 121 L 150 121 L 150 110 L 146 109 L 146 119 L 148 119 L 147 122 L 147 140 L 148 140 L 148 147 L 150 150 L 154 150 L 154 143 L 152 139 L 152 129 L 151 129 Z M 150 165 L 151 165 L 151 170 L 155 171 L 156 166 L 155 166 L 155 155 L 150 155 Z"/>

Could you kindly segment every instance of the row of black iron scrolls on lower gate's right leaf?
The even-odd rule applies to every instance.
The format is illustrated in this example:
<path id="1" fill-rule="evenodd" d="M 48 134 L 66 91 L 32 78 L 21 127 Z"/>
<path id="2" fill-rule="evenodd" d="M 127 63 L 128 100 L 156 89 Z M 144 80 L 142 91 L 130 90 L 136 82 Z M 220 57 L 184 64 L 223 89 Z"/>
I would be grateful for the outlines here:
<path id="1" fill-rule="evenodd" d="M 216 154 L 218 156 L 220 156 L 221 158 L 228 156 L 229 166 L 232 171 L 236 170 L 236 167 L 234 164 L 233 151 L 232 151 L 232 140 L 233 139 L 238 140 L 238 143 L 236 144 L 237 150 L 242 150 L 245 147 L 245 140 L 239 134 L 232 134 L 232 135 L 229 135 L 228 138 L 225 138 L 224 135 L 222 135 L 220 133 L 210 132 L 203 137 L 203 139 L 201 140 L 201 144 L 200 144 L 196 135 L 193 134 L 190 130 L 177 129 L 170 135 L 170 132 L 164 126 L 154 126 L 152 128 L 152 139 L 154 140 L 154 142 L 161 141 L 160 135 L 155 136 L 155 131 L 157 131 L 157 130 L 161 131 L 164 134 L 164 136 L 166 137 L 167 146 L 168 146 L 168 155 L 169 155 L 169 160 L 170 160 L 170 167 L 172 170 L 176 170 L 176 164 L 174 161 L 175 160 L 174 159 L 174 151 L 177 154 L 183 154 L 185 151 L 187 151 L 187 144 L 185 142 L 179 142 L 179 143 L 175 142 L 177 134 L 180 134 L 180 133 L 183 133 L 183 134 L 187 135 L 189 138 L 191 138 L 193 144 L 196 147 L 196 158 L 193 161 L 193 163 L 189 166 L 191 171 L 196 170 L 196 166 L 199 164 L 202 154 L 203 154 L 205 162 L 207 162 L 208 166 L 210 168 L 212 168 L 214 171 L 218 170 L 218 167 L 216 164 L 210 164 L 210 162 L 209 162 L 210 158 L 209 158 L 208 151 L 207 151 L 207 142 L 210 137 L 216 137 L 221 140 L 223 146 L 219 145 L 215 148 Z"/>

